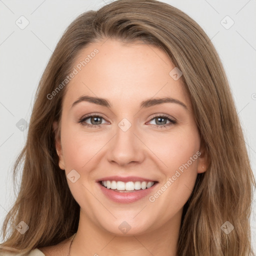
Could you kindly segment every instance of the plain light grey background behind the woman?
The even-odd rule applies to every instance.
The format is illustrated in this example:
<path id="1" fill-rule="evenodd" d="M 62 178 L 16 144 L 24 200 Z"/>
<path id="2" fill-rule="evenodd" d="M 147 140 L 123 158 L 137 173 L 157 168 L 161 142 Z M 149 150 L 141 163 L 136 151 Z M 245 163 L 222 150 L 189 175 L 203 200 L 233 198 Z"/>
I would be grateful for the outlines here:
<path id="1" fill-rule="evenodd" d="M 27 135 L 27 129 L 21 131 L 16 123 L 21 118 L 29 122 L 39 78 L 64 29 L 78 14 L 107 2 L 110 1 L 0 0 L 0 227 L 14 202 L 12 166 Z M 231 86 L 255 175 L 256 0 L 164 2 L 181 9 L 199 23 L 217 49 Z M 21 15 L 29 21 L 24 29 L 15 23 Z M 226 15 L 234 21 L 229 29 L 226 28 L 232 21 Z M 251 214 L 254 250 L 255 199 L 254 191 Z"/>

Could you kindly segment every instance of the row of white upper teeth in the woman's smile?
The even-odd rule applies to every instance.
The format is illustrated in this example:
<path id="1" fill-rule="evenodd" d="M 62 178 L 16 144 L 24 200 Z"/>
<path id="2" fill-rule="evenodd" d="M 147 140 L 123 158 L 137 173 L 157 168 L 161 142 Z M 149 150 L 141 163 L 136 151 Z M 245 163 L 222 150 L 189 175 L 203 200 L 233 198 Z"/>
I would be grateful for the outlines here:
<path id="1" fill-rule="evenodd" d="M 104 185 L 106 188 L 111 189 L 117 189 L 117 190 L 138 190 L 138 189 L 145 189 L 151 187 L 154 182 L 152 181 L 128 181 L 128 182 L 122 182 L 122 181 L 115 181 L 115 180 L 104 180 L 101 181 L 101 184 Z"/>

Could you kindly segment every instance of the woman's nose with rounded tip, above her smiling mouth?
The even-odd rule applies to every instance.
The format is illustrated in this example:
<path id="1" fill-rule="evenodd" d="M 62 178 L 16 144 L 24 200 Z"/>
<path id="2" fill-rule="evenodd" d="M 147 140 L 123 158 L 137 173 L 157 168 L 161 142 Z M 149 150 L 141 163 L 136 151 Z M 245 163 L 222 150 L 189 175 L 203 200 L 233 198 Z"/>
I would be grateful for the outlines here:
<path id="1" fill-rule="evenodd" d="M 131 125 L 126 131 L 120 127 L 117 127 L 115 136 L 109 141 L 108 161 L 121 166 L 141 163 L 145 158 L 145 145 L 139 138 L 139 133 L 135 131 L 135 126 Z"/>

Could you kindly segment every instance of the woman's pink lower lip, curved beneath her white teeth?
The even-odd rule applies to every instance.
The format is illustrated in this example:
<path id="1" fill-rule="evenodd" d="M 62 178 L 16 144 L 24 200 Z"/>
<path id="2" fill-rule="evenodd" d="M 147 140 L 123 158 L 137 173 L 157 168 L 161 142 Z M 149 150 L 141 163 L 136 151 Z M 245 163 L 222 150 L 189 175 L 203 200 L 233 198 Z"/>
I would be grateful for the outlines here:
<path id="1" fill-rule="evenodd" d="M 146 195 L 148 195 L 154 189 L 157 183 L 154 183 L 151 187 L 146 189 L 139 189 L 135 192 L 117 192 L 110 188 L 106 188 L 102 186 L 99 182 L 97 182 L 101 191 L 105 196 L 107 196 L 110 200 L 120 203 L 130 203 L 137 201 Z"/>

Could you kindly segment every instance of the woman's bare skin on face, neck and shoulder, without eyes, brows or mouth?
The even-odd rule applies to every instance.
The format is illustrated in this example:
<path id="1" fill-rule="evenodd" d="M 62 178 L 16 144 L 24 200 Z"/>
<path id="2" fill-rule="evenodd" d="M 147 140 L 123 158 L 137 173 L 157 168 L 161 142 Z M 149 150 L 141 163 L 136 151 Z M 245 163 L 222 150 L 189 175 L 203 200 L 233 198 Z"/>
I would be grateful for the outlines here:
<path id="1" fill-rule="evenodd" d="M 82 49 L 74 63 L 84 60 L 95 48 L 98 54 L 66 85 L 60 139 L 56 140 L 59 167 L 66 175 L 72 169 L 80 174 L 74 183 L 67 178 L 80 205 L 79 226 L 70 255 L 175 256 L 183 205 L 197 173 L 207 167 L 191 102 L 181 79 L 174 80 L 169 75 L 174 65 L 161 49 L 108 38 Z M 105 98 L 112 106 L 82 101 L 72 107 L 82 95 Z M 165 96 L 183 102 L 187 108 L 168 102 L 139 107 L 145 99 Z M 101 127 L 78 122 L 89 113 L 103 117 L 97 120 Z M 164 124 L 170 125 L 156 127 L 163 124 L 157 122 L 155 114 L 166 114 L 176 123 L 163 119 Z M 118 126 L 124 117 L 131 123 L 125 132 Z M 84 122 L 92 124 L 93 118 Z M 54 128 L 57 126 L 53 124 Z M 150 194 L 153 195 L 197 151 L 201 155 L 154 202 L 148 196 L 132 203 L 113 202 L 95 183 L 109 175 L 147 177 L 158 181 Z M 131 227 L 125 234 L 118 228 L 123 221 Z M 67 255 L 69 244 L 67 239 L 61 245 L 40 249 L 45 255 L 53 251 L 54 255 Z"/>

